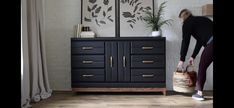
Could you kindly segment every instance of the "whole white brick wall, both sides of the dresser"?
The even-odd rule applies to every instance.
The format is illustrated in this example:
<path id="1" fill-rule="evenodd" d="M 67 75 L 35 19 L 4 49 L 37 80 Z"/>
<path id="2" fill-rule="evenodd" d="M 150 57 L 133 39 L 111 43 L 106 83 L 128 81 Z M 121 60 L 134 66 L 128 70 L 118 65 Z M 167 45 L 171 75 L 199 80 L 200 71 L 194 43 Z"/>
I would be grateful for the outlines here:
<path id="1" fill-rule="evenodd" d="M 70 38 L 73 37 L 73 26 L 80 23 L 81 0 L 45 0 L 46 53 L 50 85 L 53 90 L 71 90 Z M 156 0 L 155 6 L 165 0 Z M 201 6 L 213 3 L 212 0 L 168 0 L 165 18 L 173 19 L 173 25 L 163 28 L 166 43 L 167 88 L 172 90 L 172 73 L 179 61 L 181 44 L 181 23 L 178 14 L 188 8 L 194 15 L 201 15 Z M 157 9 L 157 7 L 156 7 Z M 192 39 L 187 59 L 193 52 L 195 40 Z M 200 52 L 201 53 L 201 52 Z M 200 54 L 196 58 L 198 66 Z M 206 90 L 213 90 L 213 70 L 207 72 Z M 197 70 L 197 67 L 196 67 Z"/>

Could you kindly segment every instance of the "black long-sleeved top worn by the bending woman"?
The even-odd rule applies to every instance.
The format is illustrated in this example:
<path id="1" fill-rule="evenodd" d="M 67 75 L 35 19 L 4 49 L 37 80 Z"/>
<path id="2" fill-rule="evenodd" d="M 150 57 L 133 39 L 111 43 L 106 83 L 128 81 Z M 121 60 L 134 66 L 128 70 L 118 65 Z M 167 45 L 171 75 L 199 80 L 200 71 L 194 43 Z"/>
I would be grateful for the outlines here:
<path id="1" fill-rule="evenodd" d="M 183 39 L 180 51 L 180 60 L 185 61 L 188 52 L 190 38 L 193 36 L 197 42 L 191 57 L 195 58 L 202 46 L 206 46 L 208 40 L 213 36 L 213 22 L 202 16 L 189 16 L 182 27 Z"/>

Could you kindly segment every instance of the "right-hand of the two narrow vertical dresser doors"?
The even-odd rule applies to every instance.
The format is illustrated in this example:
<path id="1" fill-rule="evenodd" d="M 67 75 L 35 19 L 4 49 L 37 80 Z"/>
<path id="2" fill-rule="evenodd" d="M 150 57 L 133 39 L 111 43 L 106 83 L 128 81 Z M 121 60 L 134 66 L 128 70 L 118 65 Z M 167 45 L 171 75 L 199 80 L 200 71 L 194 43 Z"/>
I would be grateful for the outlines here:
<path id="1" fill-rule="evenodd" d="M 130 81 L 130 43 L 118 42 L 118 81 Z"/>

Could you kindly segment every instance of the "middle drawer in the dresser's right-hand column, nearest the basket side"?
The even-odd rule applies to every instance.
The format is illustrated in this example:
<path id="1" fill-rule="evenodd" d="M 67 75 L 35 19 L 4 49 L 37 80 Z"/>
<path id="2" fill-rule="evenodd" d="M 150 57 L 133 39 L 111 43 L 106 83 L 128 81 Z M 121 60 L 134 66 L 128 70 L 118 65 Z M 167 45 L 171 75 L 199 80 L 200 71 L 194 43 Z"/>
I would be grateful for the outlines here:
<path id="1" fill-rule="evenodd" d="M 164 67 L 165 55 L 132 55 L 131 67 Z"/>

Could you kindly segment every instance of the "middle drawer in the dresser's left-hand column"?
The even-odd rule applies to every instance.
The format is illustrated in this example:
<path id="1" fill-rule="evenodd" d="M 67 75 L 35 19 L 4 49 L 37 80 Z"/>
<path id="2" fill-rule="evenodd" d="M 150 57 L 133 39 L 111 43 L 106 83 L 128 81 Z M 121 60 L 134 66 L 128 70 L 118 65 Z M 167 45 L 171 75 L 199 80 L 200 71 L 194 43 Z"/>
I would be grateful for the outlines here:
<path id="1" fill-rule="evenodd" d="M 72 68 L 104 67 L 104 55 L 72 56 Z"/>

